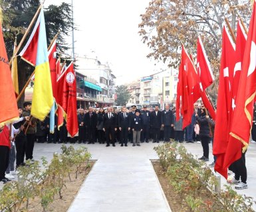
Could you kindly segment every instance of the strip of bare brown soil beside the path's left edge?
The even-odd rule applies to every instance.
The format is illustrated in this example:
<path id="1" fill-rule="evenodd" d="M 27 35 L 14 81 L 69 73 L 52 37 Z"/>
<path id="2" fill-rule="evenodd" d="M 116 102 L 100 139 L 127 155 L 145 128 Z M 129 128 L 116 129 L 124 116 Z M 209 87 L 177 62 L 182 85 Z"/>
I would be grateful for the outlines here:
<path id="1" fill-rule="evenodd" d="M 80 189 L 80 186 L 88 176 L 90 170 L 92 169 L 92 166 L 94 165 L 95 161 L 90 161 L 90 168 L 85 168 L 85 166 L 82 168 L 83 172 L 78 174 L 77 179 L 75 179 L 75 174 L 70 174 L 71 176 L 71 182 L 69 181 L 68 176 L 66 177 L 66 188 L 63 189 L 62 195 L 63 198 L 60 199 L 59 195 L 55 195 L 55 200 L 53 203 L 49 205 L 49 208 L 47 211 L 53 211 L 53 212 L 64 212 L 68 210 L 68 207 L 71 205 L 72 201 L 74 200 L 74 197 L 76 196 L 76 193 Z M 86 169 L 86 170 L 85 170 Z M 84 171 L 85 170 L 85 171 Z M 43 207 L 41 207 L 41 199 L 39 197 L 35 197 L 35 199 L 31 200 L 29 203 L 29 209 L 27 211 L 29 212 L 39 212 L 43 211 Z M 23 210 L 21 210 L 23 211 Z"/>

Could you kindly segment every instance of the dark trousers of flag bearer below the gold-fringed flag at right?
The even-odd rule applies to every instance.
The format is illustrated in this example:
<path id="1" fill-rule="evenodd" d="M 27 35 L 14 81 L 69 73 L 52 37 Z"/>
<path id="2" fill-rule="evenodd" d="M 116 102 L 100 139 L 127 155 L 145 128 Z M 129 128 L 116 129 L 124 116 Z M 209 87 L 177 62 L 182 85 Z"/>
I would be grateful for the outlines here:
<path id="1" fill-rule="evenodd" d="M 247 169 L 245 166 L 245 153 L 239 160 L 233 162 L 233 171 L 235 172 L 235 180 L 239 180 L 241 177 L 241 182 L 246 184 L 247 181 Z"/>

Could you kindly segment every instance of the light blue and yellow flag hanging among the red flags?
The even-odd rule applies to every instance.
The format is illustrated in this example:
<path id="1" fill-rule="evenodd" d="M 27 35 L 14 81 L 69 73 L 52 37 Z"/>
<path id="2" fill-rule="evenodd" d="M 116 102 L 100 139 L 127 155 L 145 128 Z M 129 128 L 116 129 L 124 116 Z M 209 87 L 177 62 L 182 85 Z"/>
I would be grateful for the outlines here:
<path id="1" fill-rule="evenodd" d="M 53 106 L 53 89 L 49 66 L 47 36 L 45 32 L 45 17 L 43 9 L 40 15 L 39 40 L 37 46 L 37 61 L 35 66 L 35 83 L 32 98 L 31 115 L 43 121 Z"/>

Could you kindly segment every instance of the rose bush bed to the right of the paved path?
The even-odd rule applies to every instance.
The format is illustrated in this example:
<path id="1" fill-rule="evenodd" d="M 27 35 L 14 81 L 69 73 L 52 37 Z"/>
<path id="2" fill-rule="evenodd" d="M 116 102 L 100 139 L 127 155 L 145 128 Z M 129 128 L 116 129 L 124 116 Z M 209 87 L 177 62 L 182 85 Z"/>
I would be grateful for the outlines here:
<path id="1" fill-rule="evenodd" d="M 175 195 L 169 201 L 173 212 L 254 211 L 253 199 L 237 194 L 230 186 L 225 185 L 225 190 L 218 193 L 211 192 L 217 185 L 215 175 L 205 162 L 193 158 L 182 144 L 173 142 L 155 147 L 154 150 L 160 158 L 159 162 L 153 162 L 154 168 L 156 170 L 159 164 L 164 172 L 163 174 L 158 169 L 158 178 L 167 180 L 160 179 L 163 190 L 167 195 L 170 195 L 170 192 L 172 196 Z M 168 189 L 166 182 L 169 184 Z M 174 201 L 178 204 L 172 205 Z"/>

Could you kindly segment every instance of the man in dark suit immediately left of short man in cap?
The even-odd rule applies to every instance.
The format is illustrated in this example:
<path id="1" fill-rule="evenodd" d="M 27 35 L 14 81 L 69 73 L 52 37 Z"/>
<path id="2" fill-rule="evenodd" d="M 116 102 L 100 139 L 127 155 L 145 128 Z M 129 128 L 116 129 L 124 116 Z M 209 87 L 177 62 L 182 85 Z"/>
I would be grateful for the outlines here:
<path id="1" fill-rule="evenodd" d="M 122 107 L 122 113 L 118 113 L 118 129 L 120 130 L 121 146 L 127 146 L 128 131 L 130 131 L 130 119 L 126 113 L 126 107 Z"/>

